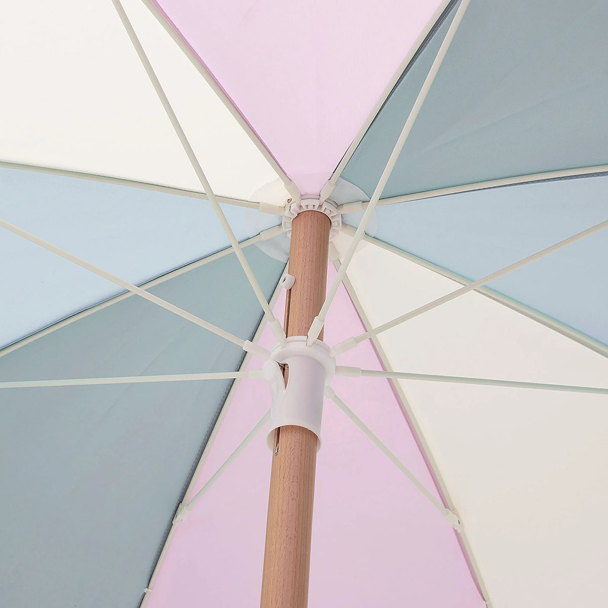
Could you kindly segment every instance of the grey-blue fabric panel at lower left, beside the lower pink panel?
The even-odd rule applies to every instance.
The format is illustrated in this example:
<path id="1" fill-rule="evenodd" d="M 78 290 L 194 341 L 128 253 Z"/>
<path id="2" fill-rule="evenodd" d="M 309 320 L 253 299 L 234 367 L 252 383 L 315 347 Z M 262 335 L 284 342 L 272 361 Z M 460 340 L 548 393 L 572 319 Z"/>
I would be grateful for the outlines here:
<path id="1" fill-rule="evenodd" d="M 284 264 L 250 247 L 270 297 Z M 150 290 L 250 339 L 234 254 Z M 244 352 L 132 296 L 0 358 L 0 380 L 236 370 Z M 136 608 L 231 381 L 0 391 L 0 604 Z"/>

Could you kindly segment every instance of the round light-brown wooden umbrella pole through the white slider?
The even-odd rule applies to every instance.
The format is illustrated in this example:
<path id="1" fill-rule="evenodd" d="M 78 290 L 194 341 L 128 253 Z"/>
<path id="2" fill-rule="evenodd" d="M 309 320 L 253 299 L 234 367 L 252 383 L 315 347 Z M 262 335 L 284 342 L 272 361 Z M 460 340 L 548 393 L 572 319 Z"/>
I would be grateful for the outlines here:
<path id="1" fill-rule="evenodd" d="M 295 283 L 285 303 L 287 336 L 306 336 L 325 300 L 330 227 L 319 211 L 303 211 L 292 221 L 289 274 Z M 299 426 L 275 431 L 261 608 L 308 604 L 316 463 L 313 432 Z"/>

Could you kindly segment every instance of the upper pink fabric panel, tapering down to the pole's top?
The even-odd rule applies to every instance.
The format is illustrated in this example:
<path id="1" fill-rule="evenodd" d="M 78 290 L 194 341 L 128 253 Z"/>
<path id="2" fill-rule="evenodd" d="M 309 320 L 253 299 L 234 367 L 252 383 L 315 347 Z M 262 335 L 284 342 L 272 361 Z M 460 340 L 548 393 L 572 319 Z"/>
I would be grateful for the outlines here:
<path id="1" fill-rule="evenodd" d="M 302 193 L 318 193 L 439 0 L 156 0 Z"/>

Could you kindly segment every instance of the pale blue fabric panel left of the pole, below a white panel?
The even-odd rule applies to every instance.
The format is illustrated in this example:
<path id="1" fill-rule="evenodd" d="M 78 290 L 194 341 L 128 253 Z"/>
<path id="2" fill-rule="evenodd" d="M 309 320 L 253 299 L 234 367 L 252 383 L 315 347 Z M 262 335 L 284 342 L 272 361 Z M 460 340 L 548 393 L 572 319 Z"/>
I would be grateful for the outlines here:
<path id="1" fill-rule="evenodd" d="M 238 240 L 280 223 L 222 207 Z M 229 246 L 208 201 L 35 171 L 0 168 L 0 218 L 138 285 Z M 0 259 L 0 346 L 122 291 L 4 229 Z"/>

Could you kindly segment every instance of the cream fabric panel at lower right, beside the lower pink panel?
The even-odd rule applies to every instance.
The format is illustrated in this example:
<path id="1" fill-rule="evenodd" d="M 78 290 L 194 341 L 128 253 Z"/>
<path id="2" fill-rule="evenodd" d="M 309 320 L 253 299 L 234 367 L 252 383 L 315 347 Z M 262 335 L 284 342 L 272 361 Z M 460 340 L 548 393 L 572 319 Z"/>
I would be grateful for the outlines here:
<path id="1" fill-rule="evenodd" d="M 340 236 L 344 253 L 348 237 Z M 373 272 L 370 272 L 373 269 Z M 458 288 L 373 244 L 348 277 L 373 325 Z M 381 334 L 397 371 L 608 385 L 608 360 L 480 294 Z M 492 608 L 601 606 L 608 398 L 402 382 Z"/>

